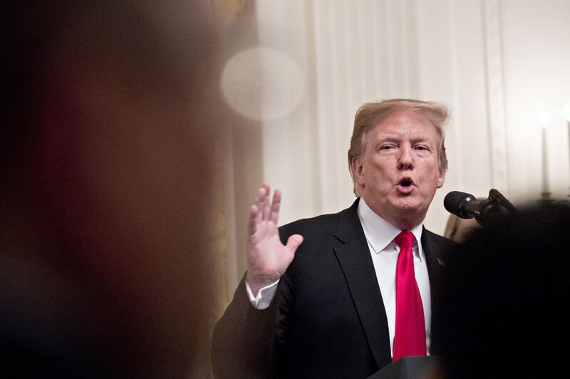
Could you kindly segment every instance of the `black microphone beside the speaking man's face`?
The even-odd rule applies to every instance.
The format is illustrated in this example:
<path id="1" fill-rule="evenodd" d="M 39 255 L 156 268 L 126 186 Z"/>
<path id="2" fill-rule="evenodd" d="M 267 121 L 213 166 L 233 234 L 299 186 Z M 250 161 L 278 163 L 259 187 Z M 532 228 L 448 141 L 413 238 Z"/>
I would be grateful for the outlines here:
<path id="1" fill-rule="evenodd" d="M 489 199 L 479 201 L 472 194 L 452 191 L 445 195 L 443 206 L 447 212 L 455 214 L 462 219 L 472 219 L 479 224 L 486 224 L 490 218 L 503 214 L 501 207 L 497 204 L 492 194 Z"/>

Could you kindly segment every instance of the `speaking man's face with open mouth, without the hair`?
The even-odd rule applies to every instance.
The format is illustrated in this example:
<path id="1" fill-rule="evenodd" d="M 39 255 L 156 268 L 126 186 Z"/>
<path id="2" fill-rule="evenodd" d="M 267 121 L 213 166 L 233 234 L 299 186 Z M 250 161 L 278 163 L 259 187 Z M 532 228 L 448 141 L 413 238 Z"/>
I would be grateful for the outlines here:
<path id="1" fill-rule="evenodd" d="M 425 115 L 400 111 L 365 138 L 363 155 L 352 163 L 358 192 L 386 221 L 400 229 L 415 227 L 445 180 L 435 127 Z"/>

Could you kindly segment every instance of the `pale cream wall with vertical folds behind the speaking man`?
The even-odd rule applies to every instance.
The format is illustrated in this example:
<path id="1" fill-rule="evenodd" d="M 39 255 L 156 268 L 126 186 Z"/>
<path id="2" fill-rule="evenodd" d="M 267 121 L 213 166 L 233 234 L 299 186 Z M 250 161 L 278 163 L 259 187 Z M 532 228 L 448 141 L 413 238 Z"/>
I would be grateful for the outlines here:
<path id="1" fill-rule="evenodd" d="M 569 16 L 568 0 L 258 0 L 258 46 L 293 62 L 280 78 L 264 77 L 253 117 L 264 180 L 284 192 L 280 223 L 351 204 L 353 115 L 383 98 L 437 100 L 451 110 L 450 170 L 425 219 L 432 231 L 443 233 L 451 190 L 486 196 L 496 188 L 515 204 L 539 198 L 543 111 L 549 185 L 567 198 Z M 260 60 L 267 74 L 263 53 Z M 275 118 L 282 104 L 292 105 Z"/>

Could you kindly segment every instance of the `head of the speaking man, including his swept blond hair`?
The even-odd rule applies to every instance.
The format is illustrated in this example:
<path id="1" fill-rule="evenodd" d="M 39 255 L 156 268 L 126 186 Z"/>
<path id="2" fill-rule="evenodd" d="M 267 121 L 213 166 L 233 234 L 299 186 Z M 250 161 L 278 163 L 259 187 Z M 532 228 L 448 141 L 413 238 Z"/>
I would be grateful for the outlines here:
<path id="1" fill-rule="evenodd" d="M 446 115 L 442 105 L 418 100 L 369 103 L 358 110 L 348 152 L 355 193 L 400 229 L 423 221 L 443 185 Z"/>

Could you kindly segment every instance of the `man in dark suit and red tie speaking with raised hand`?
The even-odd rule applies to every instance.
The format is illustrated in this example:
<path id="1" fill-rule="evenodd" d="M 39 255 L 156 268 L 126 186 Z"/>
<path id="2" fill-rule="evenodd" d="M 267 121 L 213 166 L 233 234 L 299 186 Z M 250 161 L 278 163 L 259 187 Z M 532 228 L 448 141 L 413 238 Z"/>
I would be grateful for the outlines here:
<path id="1" fill-rule="evenodd" d="M 338 214 L 278 231 L 281 193 L 270 203 L 269 185 L 259 189 L 247 274 L 214 331 L 217 378 L 366 378 L 400 356 L 430 353 L 435 279 L 452 242 L 422 222 L 445 180 L 446 118 L 445 107 L 419 100 L 364 104 L 348 151 L 359 197 Z M 413 241 L 414 306 L 398 305 L 400 234 Z M 412 308 L 421 322 L 414 346 L 399 339 Z"/>

